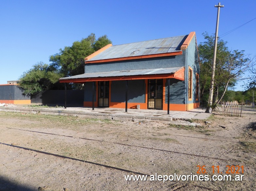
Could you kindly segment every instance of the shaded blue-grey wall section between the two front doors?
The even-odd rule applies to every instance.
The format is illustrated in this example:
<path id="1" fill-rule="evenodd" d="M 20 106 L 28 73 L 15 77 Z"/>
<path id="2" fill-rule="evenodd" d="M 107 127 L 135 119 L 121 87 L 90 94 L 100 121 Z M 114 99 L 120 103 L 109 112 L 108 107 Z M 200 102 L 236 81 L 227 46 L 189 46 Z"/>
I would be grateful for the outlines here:
<path id="1" fill-rule="evenodd" d="M 128 81 L 128 102 L 145 103 L 145 80 Z M 126 80 L 111 82 L 111 102 L 125 102 Z"/>

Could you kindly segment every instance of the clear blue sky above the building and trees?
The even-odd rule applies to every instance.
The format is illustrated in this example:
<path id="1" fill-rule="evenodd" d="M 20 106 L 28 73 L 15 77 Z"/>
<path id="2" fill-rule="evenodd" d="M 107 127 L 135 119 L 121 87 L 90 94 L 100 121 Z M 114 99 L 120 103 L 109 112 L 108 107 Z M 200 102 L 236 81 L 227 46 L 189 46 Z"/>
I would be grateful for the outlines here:
<path id="1" fill-rule="evenodd" d="M 0 84 L 94 33 L 113 45 L 215 33 L 219 1 L 213 0 L 0 0 Z M 255 0 L 220 1 L 219 36 L 256 18 Z M 256 19 L 223 36 L 231 50 L 256 54 Z M 235 90 L 244 90 L 239 83 Z"/>

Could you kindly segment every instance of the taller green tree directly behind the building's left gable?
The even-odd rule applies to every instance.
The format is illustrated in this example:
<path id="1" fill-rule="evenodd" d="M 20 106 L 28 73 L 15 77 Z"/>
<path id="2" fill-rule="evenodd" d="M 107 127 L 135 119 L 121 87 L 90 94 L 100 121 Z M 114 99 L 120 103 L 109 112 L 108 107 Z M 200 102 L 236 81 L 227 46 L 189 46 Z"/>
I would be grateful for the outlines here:
<path id="1" fill-rule="evenodd" d="M 92 33 L 87 38 L 74 42 L 71 47 L 64 47 L 59 53 L 50 56 L 50 66 L 60 70 L 65 77 L 83 74 L 84 58 L 108 44 L 111 44 L 111 40 L 107 35 L 96 40 Z M 79 85 L 73 87 L 81 88 Z"/>

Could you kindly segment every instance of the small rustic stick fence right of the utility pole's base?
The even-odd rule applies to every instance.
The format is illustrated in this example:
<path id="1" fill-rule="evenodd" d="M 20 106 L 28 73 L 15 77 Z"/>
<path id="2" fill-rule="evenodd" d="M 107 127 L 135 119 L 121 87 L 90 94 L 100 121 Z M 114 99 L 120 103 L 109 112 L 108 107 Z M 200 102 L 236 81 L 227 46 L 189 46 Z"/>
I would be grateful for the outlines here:
<path id="1" fill-rule="evenodd" d="M 241 117 L 242 116 L 242 108 L 243 108 L 243 102 L 242 102 L 241 108 L 239 108 L 239 103 L 237 101 L 221 103 L 221 110 L 222 110 L 223 116 Z"/>

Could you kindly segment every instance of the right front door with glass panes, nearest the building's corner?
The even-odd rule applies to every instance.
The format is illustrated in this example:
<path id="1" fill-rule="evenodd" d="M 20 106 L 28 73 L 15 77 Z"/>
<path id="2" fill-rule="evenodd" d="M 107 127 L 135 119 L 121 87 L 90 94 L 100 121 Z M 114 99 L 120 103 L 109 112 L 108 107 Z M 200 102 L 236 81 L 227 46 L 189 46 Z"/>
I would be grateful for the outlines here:
<path id="1" fill-rule="evenodd" d="M 162 109 L 163 80 L 148 80 L 148 109 Z"/>

